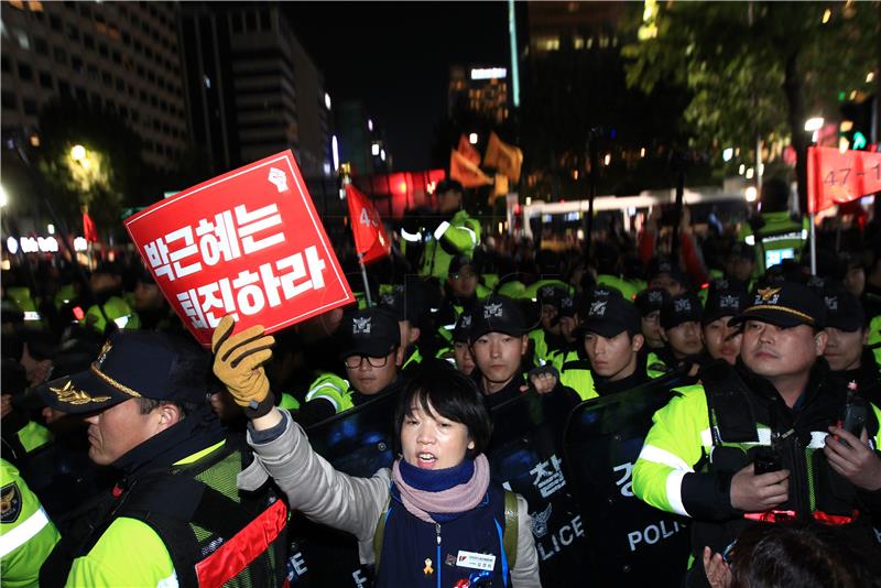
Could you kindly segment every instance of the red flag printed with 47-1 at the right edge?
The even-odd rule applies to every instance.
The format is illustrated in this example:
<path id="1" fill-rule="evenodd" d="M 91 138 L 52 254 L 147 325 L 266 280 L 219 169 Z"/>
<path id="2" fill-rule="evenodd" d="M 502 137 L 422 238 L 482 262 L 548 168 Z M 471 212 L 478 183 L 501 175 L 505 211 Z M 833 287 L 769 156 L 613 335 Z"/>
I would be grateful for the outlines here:
<path id="1" fill-rule="evenodd" d="M 811 213 L 874 192 L 881 192 L 881 153 L 808 148 L 807 209 Z"/>

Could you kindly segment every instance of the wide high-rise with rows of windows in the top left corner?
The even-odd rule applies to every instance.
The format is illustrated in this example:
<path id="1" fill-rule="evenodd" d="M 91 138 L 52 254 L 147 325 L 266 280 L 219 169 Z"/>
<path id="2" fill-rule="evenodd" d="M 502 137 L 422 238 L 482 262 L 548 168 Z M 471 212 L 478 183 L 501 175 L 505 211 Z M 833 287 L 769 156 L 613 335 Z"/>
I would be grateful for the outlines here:
<path id="1" fill-rule="evenodd" d="M 143 157 L 170 168 L 188 144 L 174 2 L 2 4 L 2 131 L 39 137 L 61 98 L 119 115 Z"/>

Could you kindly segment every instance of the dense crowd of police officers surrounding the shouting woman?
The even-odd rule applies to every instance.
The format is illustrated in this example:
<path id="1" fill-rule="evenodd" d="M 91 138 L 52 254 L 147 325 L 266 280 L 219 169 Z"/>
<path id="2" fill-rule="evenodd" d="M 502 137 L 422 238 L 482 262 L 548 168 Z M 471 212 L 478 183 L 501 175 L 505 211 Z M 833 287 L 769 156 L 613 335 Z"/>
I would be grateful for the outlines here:
<path id="1" fill-rule="evenodd" d="M 368 268 L 376 304 L 272 335 L 226 317 L 210 352 L 134 255 L 88 276 L 23 258 L 2 279 L 2 581 L 282 586 L 295 510 L 351 534 L 377 586 L 541 586 L 493 412 L 675 382 L 632 482 L 692 520 L 684 585 L 879 585 L 881 227 L 822 233 L 814 275 L 788 190 L 769 181 L 743 227 L 655 213 L 559 252 L 483 238 L 445 181 Z M 388 467 L 312 448 L 380 398 Z"/>

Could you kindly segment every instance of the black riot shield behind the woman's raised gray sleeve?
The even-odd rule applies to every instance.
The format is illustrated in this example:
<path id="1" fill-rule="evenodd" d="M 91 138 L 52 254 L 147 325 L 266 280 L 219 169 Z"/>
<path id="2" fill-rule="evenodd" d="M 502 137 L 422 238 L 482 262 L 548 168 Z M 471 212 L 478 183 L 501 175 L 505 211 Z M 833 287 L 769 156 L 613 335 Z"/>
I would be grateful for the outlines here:
<path id="1" fill-rule="evenodd" d="M 349 476 L 369 478 L 379 469 L 390 468 L 396 403 L 398 394 L 383 395 L 307 427 L 313 449 Z M 287 576 L 292 586 L 372 585 L 370 570 L 360 565 L 358 542 L 352 535 L 313 523 L 296 511 L 289 529 Z"/>

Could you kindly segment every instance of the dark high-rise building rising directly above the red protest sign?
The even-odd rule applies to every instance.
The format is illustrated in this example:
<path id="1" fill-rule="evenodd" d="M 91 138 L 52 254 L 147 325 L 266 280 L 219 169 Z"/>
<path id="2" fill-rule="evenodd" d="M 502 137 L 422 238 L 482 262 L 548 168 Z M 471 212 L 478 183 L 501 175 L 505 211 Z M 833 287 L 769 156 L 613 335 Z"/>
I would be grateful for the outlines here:
<path id="1" fill-rule="evenodd" d="M 333 172 L 330 99 L 279 4 L 182 4 L 193 138 L 217 172 L 291 149 L 304 176 Z"/>

